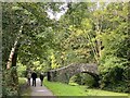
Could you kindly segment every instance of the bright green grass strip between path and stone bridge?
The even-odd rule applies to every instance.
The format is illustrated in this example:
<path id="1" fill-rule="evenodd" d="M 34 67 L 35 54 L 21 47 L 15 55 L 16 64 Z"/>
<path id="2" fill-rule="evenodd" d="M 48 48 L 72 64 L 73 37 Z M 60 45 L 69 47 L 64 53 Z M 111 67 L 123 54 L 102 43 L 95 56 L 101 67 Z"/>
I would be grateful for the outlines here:
<path id="1" fill-rule="evenodd" d="M 101 89 L 88 89 L 86 86 L 72 86 L 62 83 L 48 82 L 44 85 L 52 90 L 55 96 L 128 96 L 128 94 L 113 93 Z"/>

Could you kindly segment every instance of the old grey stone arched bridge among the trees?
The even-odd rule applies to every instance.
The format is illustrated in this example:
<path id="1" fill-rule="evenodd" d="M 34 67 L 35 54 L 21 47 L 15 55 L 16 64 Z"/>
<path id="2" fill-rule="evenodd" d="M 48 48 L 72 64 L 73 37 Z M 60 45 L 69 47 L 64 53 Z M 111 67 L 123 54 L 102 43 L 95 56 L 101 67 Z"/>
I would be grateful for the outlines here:
<path id="1" fill-rule="evenodd" d="M 61 69 L 51 70 L 48 72 L 48 81 L 69 83 L 69 78 L 79 73 L 88 73 L 94 77 L 95 82 L 99 82 L 98 65 L 89 63 L 70 64 Z"/>

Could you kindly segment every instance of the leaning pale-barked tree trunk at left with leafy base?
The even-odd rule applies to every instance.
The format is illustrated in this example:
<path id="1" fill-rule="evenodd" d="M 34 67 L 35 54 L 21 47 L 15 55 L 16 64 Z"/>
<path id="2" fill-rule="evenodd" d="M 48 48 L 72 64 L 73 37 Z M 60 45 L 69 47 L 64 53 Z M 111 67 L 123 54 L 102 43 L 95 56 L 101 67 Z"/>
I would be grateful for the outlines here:
<path id="1" fill-rule="evenodd" d="M 8 95 L 4 96 L 18 96 L 18 76 L 16 72 L 16 60 L 17 60 L 17 52 L 20 48 L 20 39 L 22 37 L 22 29 L 23 25 L 20 28 L 20 33 L 14 41 L 14 46 L 11 49 L 9 61 L 6 63 L 6 70 L 4 71 L 4 81 L 5 85 L 4 87 Z M 10 90 L 9 90 L 10 89 Z"/>

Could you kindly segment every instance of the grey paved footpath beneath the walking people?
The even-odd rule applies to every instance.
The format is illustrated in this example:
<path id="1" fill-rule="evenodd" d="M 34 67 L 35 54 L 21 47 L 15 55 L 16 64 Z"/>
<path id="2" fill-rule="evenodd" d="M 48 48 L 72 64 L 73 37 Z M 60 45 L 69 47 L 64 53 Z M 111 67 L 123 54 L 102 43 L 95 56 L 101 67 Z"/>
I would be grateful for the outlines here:
<path id="1" fill-rule="evenodd" d="M 32 79 L 30 79 L 30 89 L 31 89 L 31 94 L 30 94 L 31 98 L 37 98 L 37 96 L 54 96 L 44 85 L 40 86 L 40 78 L 36 79 L 36 87 L 32 86 Z"/>

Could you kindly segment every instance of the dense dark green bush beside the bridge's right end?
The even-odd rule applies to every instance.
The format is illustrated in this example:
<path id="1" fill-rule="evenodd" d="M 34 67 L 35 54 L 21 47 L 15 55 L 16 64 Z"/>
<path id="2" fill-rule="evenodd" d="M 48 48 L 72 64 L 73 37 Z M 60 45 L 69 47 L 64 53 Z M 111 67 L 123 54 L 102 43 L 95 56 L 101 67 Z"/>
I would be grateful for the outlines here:
<path id="1" fill-rule="evenodd" d="M 123 59 L 106 57 L 99 68 L 101 74 L 101 88 L 128 93 L 129 79 L 125 76 L 125 74 L 128 73 L 125 70 L 126 64 L 128 64 L 128 62 Z"/>

